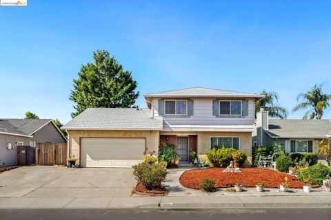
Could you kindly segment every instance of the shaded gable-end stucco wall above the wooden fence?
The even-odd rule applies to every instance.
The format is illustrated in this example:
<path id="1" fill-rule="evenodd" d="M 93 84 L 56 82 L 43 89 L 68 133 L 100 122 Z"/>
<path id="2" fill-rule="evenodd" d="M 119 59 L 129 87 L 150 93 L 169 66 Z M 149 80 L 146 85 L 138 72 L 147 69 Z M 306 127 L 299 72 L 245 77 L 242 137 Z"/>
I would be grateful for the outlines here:
<path id="1" fill-rule="evenodd" d="M 42 129 L 33 134 L 35 142 L 39 143 L 65 143 L 66 140 L 62 137 L 61 133 L 57 130 L 52 122 L 49 122 Z"/>

